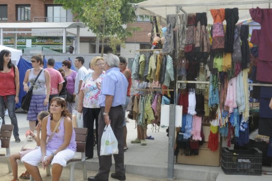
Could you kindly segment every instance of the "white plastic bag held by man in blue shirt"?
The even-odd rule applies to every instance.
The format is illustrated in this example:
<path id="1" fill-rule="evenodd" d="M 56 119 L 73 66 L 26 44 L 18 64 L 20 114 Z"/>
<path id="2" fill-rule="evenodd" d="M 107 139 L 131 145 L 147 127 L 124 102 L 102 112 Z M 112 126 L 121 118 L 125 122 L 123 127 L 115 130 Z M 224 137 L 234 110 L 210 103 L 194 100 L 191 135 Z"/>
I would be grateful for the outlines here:
<path id="1" fill-rule="evenodd" d="M 110 124 L 104 128 L 100 145 L 100 155 L 118 154 L 118 141 Z"/>

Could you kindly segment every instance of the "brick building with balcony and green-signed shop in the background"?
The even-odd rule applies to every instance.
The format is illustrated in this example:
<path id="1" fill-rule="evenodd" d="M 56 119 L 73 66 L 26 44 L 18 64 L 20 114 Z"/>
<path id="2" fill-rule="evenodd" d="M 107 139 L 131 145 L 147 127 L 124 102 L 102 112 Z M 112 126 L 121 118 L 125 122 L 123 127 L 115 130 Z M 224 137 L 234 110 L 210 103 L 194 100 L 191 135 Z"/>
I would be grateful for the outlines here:
<path id="1" fill-rule="evenodd" d="M 71 10 L 66 10 L 62 4 L 54 4 L 54 0 L 1 0 L 0 1 L 0 26 L 1 22 L 71 22 L 77 21 Z M 127 38 L 125 48 L 117 47 L 117 53 L 126 58 L 133 58 L 139 54 L 137 49 L 149 48 L 152 24 L 149 19 L 138 18 L 135 23 L 127 26 L 137 26 L 141 31 L 133 33 L 132 37 Z M 76 29 L 71 29 L 68 34 L 66 45 L 67 51 L 69 45 L 75 44 L 75 38 L 72 33 Z M 13 47 L 14 35 L 6 33 L 4 35 L 4 45 Z M 62 35 L 60 33 L 17 33 L 17 48 L 26 47 L 26 38 L 32 39 L 32 46 L 41 45 L 49 49 L 62 52 Z M 100 45 L 101 46 L 101 45 Z M 88 28 L 80 29 L 80 53 L 95 53 L 96 36 Z M 101 49 L 101 48 L 99 48 Z M 100 52 L 100 51 L 99 51 Z M 105 53 L 111 52 L 110 48 L 105 46 Z"/>

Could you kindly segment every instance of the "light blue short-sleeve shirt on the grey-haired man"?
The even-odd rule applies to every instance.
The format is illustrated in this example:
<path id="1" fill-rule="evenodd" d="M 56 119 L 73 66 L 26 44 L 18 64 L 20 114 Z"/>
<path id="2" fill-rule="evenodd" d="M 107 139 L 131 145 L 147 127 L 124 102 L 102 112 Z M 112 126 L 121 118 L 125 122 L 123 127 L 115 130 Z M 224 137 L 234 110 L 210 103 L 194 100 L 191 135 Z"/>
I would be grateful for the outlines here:
<path id="1" fill-rule="evenodd" d="M 101 94 L 98 105 L 105 106 L 106 95 L 113 95 L 112 107 L 124 105 L 126 99 L 128 81 L 124 74 L 117 67 L 110 68 L 101 84 Z"/>

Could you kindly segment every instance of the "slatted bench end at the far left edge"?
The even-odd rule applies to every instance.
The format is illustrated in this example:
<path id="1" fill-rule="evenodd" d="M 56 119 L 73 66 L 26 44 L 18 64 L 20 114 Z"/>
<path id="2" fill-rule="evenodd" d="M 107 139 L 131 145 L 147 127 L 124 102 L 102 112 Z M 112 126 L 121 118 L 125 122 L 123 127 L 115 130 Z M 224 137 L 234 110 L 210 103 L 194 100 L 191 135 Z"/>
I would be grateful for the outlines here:
<path id="1" fill-rule="evenodd" d="M 0 139 L 1 139 L 1 147 L 6 148 L 6 154 L 1 154 L 0 159 L 5 159 L 8 163 L 9 167 L 9 172 L 12 172 L 12 167 L 10 163 L 10 155 L 11 155 L 11 150 L 10 150 L 10 140 L 12 136 L 12 131 L 13 131 L 14 125 L 12 124 L 2 124 L 1 130 L 0 130 Z"/>

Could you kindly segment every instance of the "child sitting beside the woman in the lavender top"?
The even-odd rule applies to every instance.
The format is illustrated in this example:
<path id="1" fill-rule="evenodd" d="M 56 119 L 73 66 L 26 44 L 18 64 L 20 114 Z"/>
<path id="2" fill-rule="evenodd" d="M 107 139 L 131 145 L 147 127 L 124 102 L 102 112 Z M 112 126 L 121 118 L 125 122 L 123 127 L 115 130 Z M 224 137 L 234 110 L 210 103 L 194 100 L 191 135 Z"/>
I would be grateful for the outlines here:
<path id="1" fill-rule="evenodd" d="M 32 132 L 31 130 L 28 130 L 30 132 L 30 136 L 33 137 L 33 139 L 37 142 L 37 146 L 40 146 L 40 130 L 41 130 L 41 126 L 42 126 L 42 120 L 44 117 L 46 117 L 47 115 L 49 115 L 50 113 L 48 111 L 41 111 L 37 118 L 38 118 L 38 124 L 35 127 L 36 131 L 37 131 L 37 136 L 34 134 L 34 132 Z M 37 148 L 36 146 L 36 148 Z M 34 149 L 36 149 L 34 148 Z M 12 172 L 13 172 L 13 180 L 12 181 L 17 181 L 18 180 L 18 164 L 17 164 L 17 159 L 21 159 L 25 154 L 27 154 L 28 152 L 34 150 L 34 149 L 26 149 L 23 151 L 20 151 L 18 153 L 12 154 L 10 156 L 10 162 L 12 165 Z M 30 174 L 28 171 L 24 172 L 21 174 L 20 178 L 25 178 L 25 179 L 30 179 Z"/>

